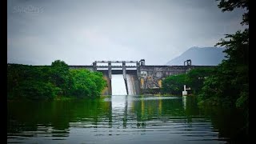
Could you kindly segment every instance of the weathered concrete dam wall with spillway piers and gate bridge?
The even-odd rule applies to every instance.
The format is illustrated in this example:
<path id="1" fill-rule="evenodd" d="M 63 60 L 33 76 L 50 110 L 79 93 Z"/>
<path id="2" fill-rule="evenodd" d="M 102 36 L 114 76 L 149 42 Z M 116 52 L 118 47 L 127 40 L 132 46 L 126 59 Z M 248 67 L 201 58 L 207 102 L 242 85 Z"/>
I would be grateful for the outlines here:
<path id="1" fill-rule="evenodd" d="M 70 66 L 70 69 L 102 72 L 107 82 L 107 87 L 102 94 L 111 95 L 112 74 L 123 75 L 127 94 L 157 94 L 164 78 L 175 74 L 186 74 L 189 70 L 201 67 L 214 66 L 193 66 L 191 60 L 186 60 L 184 66 L 146 66 L 145 60 L 142 59 L 140 61 L 95 61 L 91 66 Z"/>

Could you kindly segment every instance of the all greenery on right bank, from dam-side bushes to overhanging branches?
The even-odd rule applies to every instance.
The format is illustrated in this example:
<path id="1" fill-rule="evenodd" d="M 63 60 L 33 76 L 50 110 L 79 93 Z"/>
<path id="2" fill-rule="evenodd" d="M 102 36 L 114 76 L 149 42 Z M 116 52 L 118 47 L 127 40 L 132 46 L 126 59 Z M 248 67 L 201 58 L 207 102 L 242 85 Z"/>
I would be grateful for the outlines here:
<path id="1" fill-rule="evenodd" d="M 224 11 L 243 8 L 242 25 L 249 25 L 249 1 L 220 1 Z M 235 107 L 246 118 L 246 133 L 249 125 L 249 27 L 235 34 L 226 34 L 216 46 L 226 48 L 226 59 L 213 70 L 190 70 L 188 74 L 170 76 L 162 82 L 163 93 L 182 93 L 183 85 L 190 86 L 198 95 L 200 106 Z M 202 73 L 201 73 L 202 72 Z M 200 76 L 202 74 L 202 77 Z M 198 77 L 200 76 L 200 77 Z"/>

